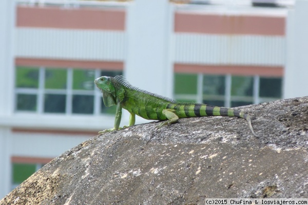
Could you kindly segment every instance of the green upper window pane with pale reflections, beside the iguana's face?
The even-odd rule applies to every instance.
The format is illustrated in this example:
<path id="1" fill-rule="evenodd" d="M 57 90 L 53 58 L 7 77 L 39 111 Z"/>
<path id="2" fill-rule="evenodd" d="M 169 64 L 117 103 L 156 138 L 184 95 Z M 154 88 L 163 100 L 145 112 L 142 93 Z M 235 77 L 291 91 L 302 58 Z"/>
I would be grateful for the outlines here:
<path id="1" fill-rule="evenodd" d="M 73 89 L 93 90 L 94 76 L 94 70 L 73 70 Z"/>

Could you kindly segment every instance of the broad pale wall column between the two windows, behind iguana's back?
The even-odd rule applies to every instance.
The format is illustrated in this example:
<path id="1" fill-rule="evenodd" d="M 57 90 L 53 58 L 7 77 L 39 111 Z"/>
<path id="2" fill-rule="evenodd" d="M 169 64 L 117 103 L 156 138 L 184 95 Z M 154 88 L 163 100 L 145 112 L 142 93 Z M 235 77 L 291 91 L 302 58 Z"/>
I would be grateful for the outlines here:
<path id="1" fill-rule="evenodd" d="M 127 9 L 125 76 L 134 86 L 172 97 L 172 5 L 136 0 Z"/>

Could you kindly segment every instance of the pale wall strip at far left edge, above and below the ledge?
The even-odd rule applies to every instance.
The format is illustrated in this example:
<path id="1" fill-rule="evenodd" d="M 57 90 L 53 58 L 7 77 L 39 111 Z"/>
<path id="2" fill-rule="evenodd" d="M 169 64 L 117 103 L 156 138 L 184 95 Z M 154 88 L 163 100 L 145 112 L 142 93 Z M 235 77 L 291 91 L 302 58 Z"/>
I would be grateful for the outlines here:
<path id="1" fill-rule="evenodd" d="M 0 116 L 12 113 L 14 62 L 13 42 L 15 1 L 3 0 L 0 6 Z M 0 126 L 0 198 L 10 192 L 11 186 L 10 129 Z"/>

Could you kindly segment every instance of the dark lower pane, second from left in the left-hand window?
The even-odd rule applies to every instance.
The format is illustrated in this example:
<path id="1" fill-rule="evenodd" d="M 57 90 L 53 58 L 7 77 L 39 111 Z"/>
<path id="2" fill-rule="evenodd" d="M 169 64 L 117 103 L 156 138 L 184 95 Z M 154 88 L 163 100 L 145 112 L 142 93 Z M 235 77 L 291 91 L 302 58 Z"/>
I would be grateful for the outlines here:
<path id="1" fill-rule="evenodd" d="M 45 113 L 65 113 L 66 96 L 56 94 L 46 94 L 44 101 Z"/>

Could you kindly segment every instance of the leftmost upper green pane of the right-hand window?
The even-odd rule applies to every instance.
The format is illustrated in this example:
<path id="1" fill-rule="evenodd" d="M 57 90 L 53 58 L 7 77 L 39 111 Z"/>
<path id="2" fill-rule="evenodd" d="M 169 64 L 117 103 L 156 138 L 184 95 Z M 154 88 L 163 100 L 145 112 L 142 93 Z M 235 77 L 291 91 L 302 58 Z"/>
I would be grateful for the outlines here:
<path id="1" fill-rule="evenodd" d="M 197 74 L 175 73 L 175 94 L 197 94 Z"/>

